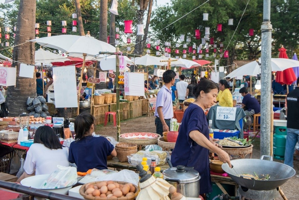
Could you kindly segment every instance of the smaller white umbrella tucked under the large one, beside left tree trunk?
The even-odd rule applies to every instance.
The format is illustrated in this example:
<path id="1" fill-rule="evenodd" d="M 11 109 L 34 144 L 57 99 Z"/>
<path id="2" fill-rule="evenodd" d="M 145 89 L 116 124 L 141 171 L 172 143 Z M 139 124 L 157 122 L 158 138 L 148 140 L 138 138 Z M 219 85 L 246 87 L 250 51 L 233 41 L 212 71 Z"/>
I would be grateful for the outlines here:
<path id="1" fill-rule="evenodd" d="M 54 54 L 50 51 L 39 49 L 35 51 L 35 63 L 50 64 L 51 62 L 64 62 L 70 60 L 66 57 Z"/>

